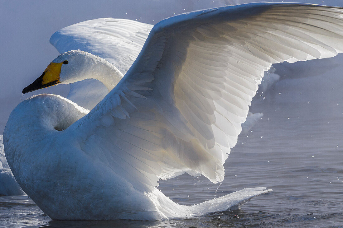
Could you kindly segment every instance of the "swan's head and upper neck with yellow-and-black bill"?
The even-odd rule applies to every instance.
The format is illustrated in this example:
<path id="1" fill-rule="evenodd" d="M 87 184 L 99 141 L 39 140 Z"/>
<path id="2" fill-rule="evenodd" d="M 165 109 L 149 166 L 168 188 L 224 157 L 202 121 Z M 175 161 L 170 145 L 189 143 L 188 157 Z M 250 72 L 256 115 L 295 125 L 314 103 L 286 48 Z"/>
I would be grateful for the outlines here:
<path id="1" fill-rule="evenodd" d="M 22 93 L 32 92 L 37 89 L 54 86 L 57 84 L 70 84 L 86 78 L 95 78 L 103 72 L 106 60 L 91 53 L 72 50 L 57 56 L 42 75 L 33 83 L 25 87 Z"/>

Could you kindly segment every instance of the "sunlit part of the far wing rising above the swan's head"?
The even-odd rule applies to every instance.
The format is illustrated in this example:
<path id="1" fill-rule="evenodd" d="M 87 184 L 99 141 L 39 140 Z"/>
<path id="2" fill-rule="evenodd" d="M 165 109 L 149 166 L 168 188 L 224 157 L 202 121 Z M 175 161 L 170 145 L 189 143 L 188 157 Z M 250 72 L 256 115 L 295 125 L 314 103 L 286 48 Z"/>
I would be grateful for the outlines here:
<path id="1" fill-rule="evenodd" d="M 98 18 L 62 28 L 50 43 L 60 52 L 87 51 L 107 60 L 125 75 L 153 25 L 127 19 Z"/>

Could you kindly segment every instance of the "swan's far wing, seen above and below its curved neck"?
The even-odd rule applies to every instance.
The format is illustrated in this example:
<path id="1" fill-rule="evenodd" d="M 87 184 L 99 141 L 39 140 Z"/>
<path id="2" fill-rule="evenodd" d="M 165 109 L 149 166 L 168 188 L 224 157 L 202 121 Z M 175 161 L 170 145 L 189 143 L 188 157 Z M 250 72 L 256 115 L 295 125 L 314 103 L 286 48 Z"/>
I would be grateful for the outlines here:
<path id="1" fill-rule="evenodd" d="M 125 74 L 141 51 L 153 25 L 127 19 L 98 18 L 62 28 L 50 38 L 60 52 L 82 50 L 106 59 Z M 95 79 L 73 83 L 68 99 L 92 109 L 108 90 Z"/>

